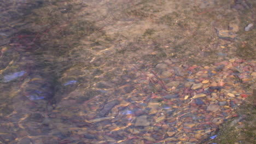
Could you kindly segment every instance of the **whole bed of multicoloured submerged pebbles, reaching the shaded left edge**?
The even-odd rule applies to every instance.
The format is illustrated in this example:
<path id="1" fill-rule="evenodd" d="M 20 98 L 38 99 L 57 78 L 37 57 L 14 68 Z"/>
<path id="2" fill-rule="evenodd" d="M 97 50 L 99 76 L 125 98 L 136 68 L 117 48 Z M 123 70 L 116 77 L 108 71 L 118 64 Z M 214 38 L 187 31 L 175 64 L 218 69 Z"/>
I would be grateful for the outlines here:
<path id="1" fill-rule="evenodd" d="M 154 67 L 74 65 L 53 86 L 31 51 L 12 52 L 21 59 L 1 70 L 2 88 L 13 85 L 4 95 L 14 105 L 1 112 L 5 143 L 201 143 L 238 116 L 252 95 L 243 86 L 256 79 L 255 61 L 190 65 L 173 58 Z"/>

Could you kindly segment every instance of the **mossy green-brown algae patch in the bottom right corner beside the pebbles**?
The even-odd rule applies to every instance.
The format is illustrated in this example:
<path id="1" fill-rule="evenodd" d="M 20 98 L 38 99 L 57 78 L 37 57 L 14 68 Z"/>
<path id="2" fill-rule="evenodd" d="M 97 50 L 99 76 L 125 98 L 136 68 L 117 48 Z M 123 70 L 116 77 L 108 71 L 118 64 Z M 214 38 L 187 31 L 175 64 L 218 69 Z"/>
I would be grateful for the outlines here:
<path id="1" fill-rule="evenodd" d="M 205 143 L 256 143 L 256 89 L 253 89 L 253 93 L 246 100 L 245 104 L 242 104 L 237 108 L 237 117 L 225 122 L 217 133 L 217 137 L 214 140 L 209 140 Z"/>

